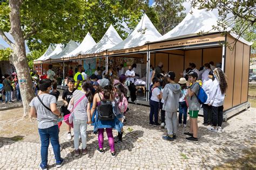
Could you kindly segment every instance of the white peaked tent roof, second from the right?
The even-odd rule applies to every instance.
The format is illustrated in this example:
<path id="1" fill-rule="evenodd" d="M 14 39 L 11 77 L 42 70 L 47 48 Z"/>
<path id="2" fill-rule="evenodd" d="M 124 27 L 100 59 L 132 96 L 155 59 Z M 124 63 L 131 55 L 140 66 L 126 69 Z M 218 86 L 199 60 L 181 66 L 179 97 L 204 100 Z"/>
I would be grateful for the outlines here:
<path id="1" fill-rule="evenodd" d="M 157 31 L 156 27 L 154 27 L 149 17 L 144 14 L 130 36 L 109 49 L 109 51 L 143 46 L 147 41 L 154 41 L 159 37 L 161 37 L 161 34 Z"/>

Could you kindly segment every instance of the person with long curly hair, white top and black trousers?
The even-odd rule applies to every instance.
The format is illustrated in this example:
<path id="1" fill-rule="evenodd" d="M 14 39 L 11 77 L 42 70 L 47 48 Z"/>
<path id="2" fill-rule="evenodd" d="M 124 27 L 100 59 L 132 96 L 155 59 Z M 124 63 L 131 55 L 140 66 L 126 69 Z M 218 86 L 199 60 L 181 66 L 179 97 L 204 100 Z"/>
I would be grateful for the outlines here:
<path id="1" fill-rule="evenodd" d="M 213 126 L 208 128 L 212 132 L 221 131 L 221 125 L 223 122 L 223 103 L 225 99 L 225 93 L 227 90 L 227 80 L 221 68 L 215 68 L 213 71 L 215 80 L 212 83 L 212 91 L 210 94 L 210 102 L 208 105 L 212 106 L 212 124 Z"/>

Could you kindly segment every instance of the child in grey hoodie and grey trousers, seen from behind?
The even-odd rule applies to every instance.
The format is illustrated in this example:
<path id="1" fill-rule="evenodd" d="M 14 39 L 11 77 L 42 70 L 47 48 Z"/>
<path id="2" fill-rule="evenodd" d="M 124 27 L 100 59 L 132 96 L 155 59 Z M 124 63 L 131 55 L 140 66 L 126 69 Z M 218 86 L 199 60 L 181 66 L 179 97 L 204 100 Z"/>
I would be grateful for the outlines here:
<path id="1" fill-rule="evenodd" d="M 163 136 L 164 140 L 173 141 L 177 134 L 177 110 L 179 98 L 182 95 L 179 84 L 174 82 L 175 73 L 169 72 L 166 75 L 169 83 L 165 85 L 163 92 L 163 110 L 165 110 L 165 123 L 168 135 Z"/>

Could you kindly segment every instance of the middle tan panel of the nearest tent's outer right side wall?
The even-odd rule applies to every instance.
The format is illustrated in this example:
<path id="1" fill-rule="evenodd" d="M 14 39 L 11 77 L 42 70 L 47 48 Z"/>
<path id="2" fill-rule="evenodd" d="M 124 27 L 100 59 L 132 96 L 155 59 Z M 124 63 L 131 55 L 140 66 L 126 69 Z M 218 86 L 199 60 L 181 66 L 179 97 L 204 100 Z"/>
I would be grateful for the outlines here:
<path id="1" fill-rule="evenodd" d="M 242 55 L 244 45 L 237 41 L 235 45 L 235 70 L 234 70 L 234 90 L 233 90 L 233 107 L 241 104 L 241 86 L 242 86 Z"/>

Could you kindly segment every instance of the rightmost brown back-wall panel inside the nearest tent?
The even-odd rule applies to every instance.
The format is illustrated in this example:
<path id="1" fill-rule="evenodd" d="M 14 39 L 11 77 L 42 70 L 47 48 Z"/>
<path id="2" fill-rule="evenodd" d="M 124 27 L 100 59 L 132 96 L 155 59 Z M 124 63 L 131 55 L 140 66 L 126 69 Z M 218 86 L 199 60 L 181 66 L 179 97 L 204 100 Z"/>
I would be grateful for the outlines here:
<path id="1" fill-rule="evenodd" d="M 223 47 L 203 49 L 203 65 L 213 61 L 216 66 L 217 63 L 221 62 L 222 49 Z"/>

